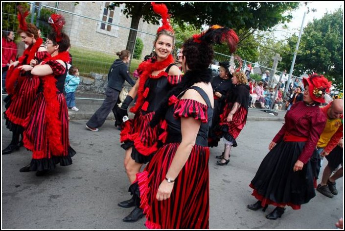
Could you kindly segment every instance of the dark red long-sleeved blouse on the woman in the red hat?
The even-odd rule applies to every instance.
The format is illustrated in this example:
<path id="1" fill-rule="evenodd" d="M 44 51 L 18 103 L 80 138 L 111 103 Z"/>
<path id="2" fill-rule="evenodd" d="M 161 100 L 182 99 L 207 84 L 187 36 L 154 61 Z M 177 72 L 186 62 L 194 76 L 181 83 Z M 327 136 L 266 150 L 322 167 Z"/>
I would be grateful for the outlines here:
<path id="1" fill-rule="evenodd" d="M 291 135 L 305 137 L 307 141 L 299 160 L 304 164 L 312 156 L 320 135 L 326 125 L 326 116 L 322 113 L 319 106 L 308 106 L 304 102 L 296 102 L 285 115 L 285 124 L 276 134 L 273 142 L 281 141 L 286 132 Z"/>

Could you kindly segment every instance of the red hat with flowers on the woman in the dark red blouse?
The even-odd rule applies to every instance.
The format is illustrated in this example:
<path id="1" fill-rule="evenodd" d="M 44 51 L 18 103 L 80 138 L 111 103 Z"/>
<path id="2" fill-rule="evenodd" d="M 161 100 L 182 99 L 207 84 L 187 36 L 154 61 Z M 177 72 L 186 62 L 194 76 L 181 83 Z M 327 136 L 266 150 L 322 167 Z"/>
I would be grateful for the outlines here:
<path id="1" fill-rule="evenodd" d="M 313 101 L 325 103 L 325 94 L 329 93 L 332 82 L 323 75 L 314 73 L 308 78 L 303 77 L 304 86 L 309 85 L 309 95 Z"/>

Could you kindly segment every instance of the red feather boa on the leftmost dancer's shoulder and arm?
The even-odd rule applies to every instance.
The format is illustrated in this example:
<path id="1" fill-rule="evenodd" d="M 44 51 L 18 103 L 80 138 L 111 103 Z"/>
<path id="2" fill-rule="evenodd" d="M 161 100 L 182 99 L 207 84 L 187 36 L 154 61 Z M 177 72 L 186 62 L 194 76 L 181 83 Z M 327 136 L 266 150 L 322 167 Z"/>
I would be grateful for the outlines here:
<path id="1" fill-rule="evenodd" d="M 14 94 L 14 85 L 18 80 L 18 77 L 20 76 L 20 70 L 18 67 L 25 65 L 25 64 L 30 64 L 30 61 L 35 58 L 35 54 L 38 50 L 38 48 L 42 45 L 43 39 L 38 38 L 36 40 L 36 43 L 31 44 L 28 48 L 26 48 L 23 52 L 23 55 L 19 57 L 19 65 L 16 68 L 11 68 L 8 70 L 6 74 L 6 80 L 5 80 L 5 86 L 7 89 L 7 93 L 9 95 Z M 27 56 L 26 63 L 23 63 L 25 57 Z"/>

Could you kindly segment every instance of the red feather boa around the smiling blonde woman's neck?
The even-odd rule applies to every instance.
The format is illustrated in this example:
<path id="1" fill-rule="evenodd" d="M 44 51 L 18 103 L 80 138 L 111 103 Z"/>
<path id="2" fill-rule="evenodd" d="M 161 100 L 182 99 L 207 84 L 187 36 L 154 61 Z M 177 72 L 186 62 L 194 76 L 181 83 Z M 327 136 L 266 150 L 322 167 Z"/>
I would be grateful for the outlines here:
<path id="1" fill-rule="evenodd" d="M 144 96 L 143 96 L 144 85 L 145 85 L 146 80 L 150 77 L 150 74 L 154 71 L 163 70 L 164 68 L 169 66 L 171 63 L 174 63 L 174 57 L 171 54 L 169 54 L 169 56 L 161 62 L 158 62 L 158 61 L 151 62 L 151 60 L 148 60 L 148 61 L 140 63 L 138 69 L 142 71 L 142 73 L 139 79 L 138 100 L 137 100 L 136 105 L 130 109 L 131 112 L 137 113 L 138 109 L 144 103 Z M 158 75 L 157 77 L 161 77 L 161 76 Z M 154 76 L 151 76 L 151 78 L 154 78 Z"/>

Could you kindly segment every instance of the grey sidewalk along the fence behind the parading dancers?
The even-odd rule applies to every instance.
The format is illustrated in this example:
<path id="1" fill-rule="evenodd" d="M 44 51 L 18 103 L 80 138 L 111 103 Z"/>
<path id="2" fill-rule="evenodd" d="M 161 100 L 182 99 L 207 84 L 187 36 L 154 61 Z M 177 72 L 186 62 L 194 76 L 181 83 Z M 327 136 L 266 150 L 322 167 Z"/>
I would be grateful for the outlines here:
<path id="1" fill-rule="evenodd" d="M 69 118 L 71 120 L 89 120 L 93 113 L 102 105 L 104 95 L 100 94 L 87 94 L 87 93 L 77 93 L 76 94 L 76 107 L 79 111 L 73 111 L 69 109 Z M 2 102 L 5 98 L 2 95 Z M 97 99 L 97 100 L 91 100 Z M 133 103 L 132 103 L 133 106 Z M 2 103 L 2 112 L 5 111 L 4 103 Z M 247 121 L 284 121 L 286 111 L 270 111 L 264 109 L 253 109 L 249 108 Z M 277 114 L 277 115 L 274 115 Z M 130 118 L 134 117 L 133 113 L 129 112 Z M 3 116 L 2 116 L 3 118 Z M 111 112 L 107 120 L 115 120 L 113 112 Z"/>

